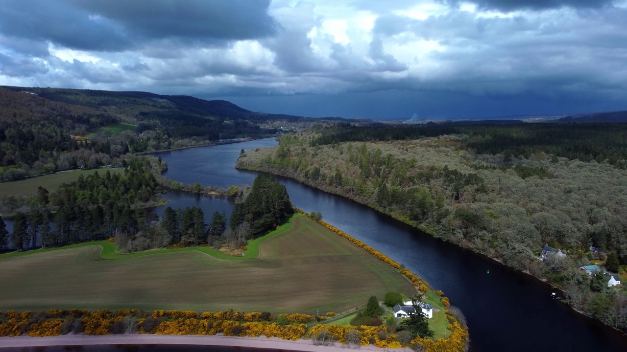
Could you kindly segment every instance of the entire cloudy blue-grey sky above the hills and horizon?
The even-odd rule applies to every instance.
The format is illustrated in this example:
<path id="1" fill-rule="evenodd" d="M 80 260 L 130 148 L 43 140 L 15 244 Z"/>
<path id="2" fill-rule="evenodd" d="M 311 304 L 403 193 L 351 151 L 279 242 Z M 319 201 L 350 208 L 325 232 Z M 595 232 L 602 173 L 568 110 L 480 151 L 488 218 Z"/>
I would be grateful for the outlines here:
<path id="1" fill-rule="evenodd" d="M 349 118 L 627 110 L 627 0 L 2 0 L 0 85 Z"/>

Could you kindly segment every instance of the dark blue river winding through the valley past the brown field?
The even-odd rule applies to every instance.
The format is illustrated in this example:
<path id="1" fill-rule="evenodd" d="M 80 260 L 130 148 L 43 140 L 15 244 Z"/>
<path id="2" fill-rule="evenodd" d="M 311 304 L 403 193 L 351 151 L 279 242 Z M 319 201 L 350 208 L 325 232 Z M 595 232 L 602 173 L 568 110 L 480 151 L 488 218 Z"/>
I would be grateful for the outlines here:
<path id="1" fill-rule="evenodd" d="M 251 184 L 256 172 L 233 167 L 241 149 L 277 145 L 272 138 L 155 153 L 168 163 L 166 176 L 193 184 Z M 498 262 L 424 234 L 352 200 L 280 177 L 292 203 L 322 212 L 329 224 L 376 248 L 441 289 L 461 308 L 470 326 L 470 350 L 627 351 L 627 338 L 551 299 L 551 287 Z M 171 207 L 196 205 L 210 219 L 229 214 L 219 197 L 168 194 Z M 165 207 L 157 208 L 161 214 Z M 488 274 L 489 271 L 489 274 Z"/>

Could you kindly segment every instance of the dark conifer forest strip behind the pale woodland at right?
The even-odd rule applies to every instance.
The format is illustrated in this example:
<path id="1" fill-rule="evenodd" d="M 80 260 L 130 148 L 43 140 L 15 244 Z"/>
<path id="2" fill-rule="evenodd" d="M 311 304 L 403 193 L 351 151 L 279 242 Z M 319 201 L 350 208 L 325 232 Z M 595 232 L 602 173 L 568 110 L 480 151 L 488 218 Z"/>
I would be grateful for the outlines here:
<path id="1" fill-rule="evenodd" d="M 521 123 L 517 125 L 421 125 L 406 127 L 350 127 L 329 130 L 311 145 L 340 142 L 412 140 L 441 135 L 463 135 L 461 142 L 478 154 L 529 158 L 544 152 L 556 157 L 595 160 L 627 169 L 627 124 Z"/>

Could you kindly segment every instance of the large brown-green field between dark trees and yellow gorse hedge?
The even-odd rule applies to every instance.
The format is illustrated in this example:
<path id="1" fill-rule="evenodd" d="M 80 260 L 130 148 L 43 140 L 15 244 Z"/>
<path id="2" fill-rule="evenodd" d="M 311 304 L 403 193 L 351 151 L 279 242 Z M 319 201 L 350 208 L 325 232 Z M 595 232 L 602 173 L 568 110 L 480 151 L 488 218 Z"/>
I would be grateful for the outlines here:
<path id="1" fill-rule="evenodd" d="M 242 259 L 203 251 L 157 250 L 116 256 L 112 246 L 0 256 L 0 310 L 50 308 L 345 311 L 387 291 L 412 295 L 393 267 L 313 220 L 253 244 Z M 101 243 L 102 244 L 102 243 Z M 103 251 L 104 249 L 104 251 Z M 105 260 L 115 259 L 115 260 Z M 224 256 L 224 255 L 223 255 Z"/>

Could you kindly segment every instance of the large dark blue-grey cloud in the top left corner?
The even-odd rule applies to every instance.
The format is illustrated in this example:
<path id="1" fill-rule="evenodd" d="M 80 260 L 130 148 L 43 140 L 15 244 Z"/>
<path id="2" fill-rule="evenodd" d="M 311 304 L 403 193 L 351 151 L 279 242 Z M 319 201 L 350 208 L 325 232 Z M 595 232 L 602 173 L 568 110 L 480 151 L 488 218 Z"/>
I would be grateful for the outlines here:
<path id="1" fill-rule="evenodd" d="M 0 31 L 71 49 L 124 51 L 155 39 L 221 45 L 268 36 L 269 0 L 6 0 Z"/>

